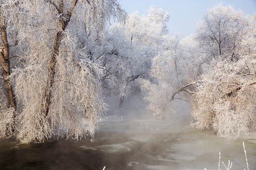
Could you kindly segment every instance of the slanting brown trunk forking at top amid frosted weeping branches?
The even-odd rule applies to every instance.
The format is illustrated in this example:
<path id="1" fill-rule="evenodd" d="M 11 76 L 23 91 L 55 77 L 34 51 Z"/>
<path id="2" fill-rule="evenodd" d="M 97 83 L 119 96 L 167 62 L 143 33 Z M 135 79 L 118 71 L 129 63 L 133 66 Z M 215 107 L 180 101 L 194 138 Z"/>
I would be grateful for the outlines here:
<path id="1" fill-rule="evenodd" d="M 60 41 L 63 36 L 62 32 L 65 31 L 65 29 L 69 23 L 69 20 L 71 19 L 72 12 L 73 12 L 74 8 L 76 7 L 77 1 L 78 0 L 72 1 L 71 7 L 68 10 L 67 20 L 65 21 L 63 17 L 61 17 L 59 20 L 59 31 L 55 35 L 53 52 L 51 54 L 51 59 L 49 61 L 49 67 L 48 67 L 48 79 L 47 79 L 47 84 L 46 84 L 46 91 L 44 92 L 43 101 L 42 101 L 42 112 L 45 117 L 48 116 L 48 112 L 49 112 L 49 104 L 50 104 L 50 100 L 51 100 L 52 86 L 53 86 L 54 76 L 55 76 L 56 56 L 59 55 Z M 60 0 L 59 7 L 57 7 L 52 1 L 49 3 L 52 3 L 56 7 L 59 14 L 63 14 L 63 10 L 64 10 L 63 0 Z"/>

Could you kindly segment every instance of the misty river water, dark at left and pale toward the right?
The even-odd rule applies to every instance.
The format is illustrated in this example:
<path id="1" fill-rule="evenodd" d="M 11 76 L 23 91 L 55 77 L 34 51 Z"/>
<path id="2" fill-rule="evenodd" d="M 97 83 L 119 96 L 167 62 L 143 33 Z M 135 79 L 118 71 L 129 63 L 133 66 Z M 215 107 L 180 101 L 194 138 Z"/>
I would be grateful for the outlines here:
<path id="1" fill-rule="evenodd" d="M 191 128 L 189 106 L 175 105 L 164 120 L 153 117 L 141 99 L 132 98 L 119 109 L 118 100 L 102 116 L 94 139 L 59 139 L 40 144 L 16 144 L 0 139 L 0 169 L 256 169 L 256 139 L 227 139 L 212 130 Z M 221 169 L 225 169 L 221 165 Z"/>

